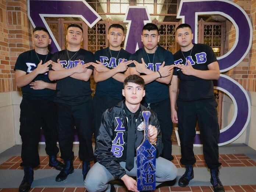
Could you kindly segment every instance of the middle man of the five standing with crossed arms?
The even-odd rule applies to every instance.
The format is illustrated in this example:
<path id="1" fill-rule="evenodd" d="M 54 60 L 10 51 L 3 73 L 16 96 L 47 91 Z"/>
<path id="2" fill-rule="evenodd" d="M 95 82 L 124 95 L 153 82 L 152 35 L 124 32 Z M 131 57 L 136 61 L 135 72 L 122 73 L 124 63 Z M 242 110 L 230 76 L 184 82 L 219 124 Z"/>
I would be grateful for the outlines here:
<path id="1" fill-rule="evenodd" d="M 132 62 L 127 61 L 131 54 L 121 48 L 124 38 L 122 25 L 110 25 L 107 35 L 110 46 L 98 50 L 94 54 L 96 63 L 92 63 L 95 67 L 93 77 L 97 83 L 92 100 L 95 141 L 103 112 L 123 99 L 121 90 L 125 77 L 130 74 L 130 71 L 127 70 L 128 65 Z"/>

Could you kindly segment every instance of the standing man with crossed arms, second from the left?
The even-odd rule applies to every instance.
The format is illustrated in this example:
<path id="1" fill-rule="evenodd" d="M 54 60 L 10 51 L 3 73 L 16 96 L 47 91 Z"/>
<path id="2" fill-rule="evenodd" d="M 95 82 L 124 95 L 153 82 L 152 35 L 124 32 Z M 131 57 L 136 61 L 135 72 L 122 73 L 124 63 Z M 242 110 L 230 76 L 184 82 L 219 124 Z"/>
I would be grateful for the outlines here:
<path id="1" fill-rule="evenodd" d="M 57 80 L 56 98 L 57 130 L 64 169 L 56 181 L 63 181 L 74 172 L 74 127 L 79 138 L 79 158 L 85 179 L 93 160 L 92 149 L 92 98 L 90 76 L 93 72 L 93 54 L 81 48 L 83 41 L 81 26 L 71 24 L 67 28 L 67 49 L 56 52 L 53 57 L 50 80 Z"/>

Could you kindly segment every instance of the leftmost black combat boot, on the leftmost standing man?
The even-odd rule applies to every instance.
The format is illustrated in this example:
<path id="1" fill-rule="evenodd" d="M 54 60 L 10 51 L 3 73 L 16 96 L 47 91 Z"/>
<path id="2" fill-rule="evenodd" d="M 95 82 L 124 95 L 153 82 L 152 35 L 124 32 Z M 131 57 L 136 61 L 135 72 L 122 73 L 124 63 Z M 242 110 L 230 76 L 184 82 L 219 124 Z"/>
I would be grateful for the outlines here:
<path id="1" fill-rule="evenodd" d="M 23 169 L 24 177 L 21 184 L 19 185 L 19 192 L 28 192 L 34 180 L 34 171 L 33 167 L 30 166 L 24 166 Z"/>

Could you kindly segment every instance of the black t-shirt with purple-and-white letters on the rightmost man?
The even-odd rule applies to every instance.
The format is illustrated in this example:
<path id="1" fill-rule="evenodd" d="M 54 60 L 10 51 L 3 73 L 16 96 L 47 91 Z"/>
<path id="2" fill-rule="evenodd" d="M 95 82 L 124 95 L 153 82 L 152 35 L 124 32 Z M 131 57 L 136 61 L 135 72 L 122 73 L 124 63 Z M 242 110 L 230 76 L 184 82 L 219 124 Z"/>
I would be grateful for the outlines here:
<path id="1" fill-rule="evenodd" d="M 174 64 L 185 64 L 186 59 L 188 59 L 194 69 L 209 70 L 208 65 L 217 61 L 213 50 L 206 44 L 193 45 L 192 50 L 183 51 L 184 55 L 181 50 L 177 51 L 174 54 Z M 186 59 L 184 57 L 186 57 Z M 184 75 L 178 68 L 174 69 L 173 75 L 178 75 L 180 79 L 178 101 L 215 99 L 212 80 L 205 80 L 192 75 Z"/>

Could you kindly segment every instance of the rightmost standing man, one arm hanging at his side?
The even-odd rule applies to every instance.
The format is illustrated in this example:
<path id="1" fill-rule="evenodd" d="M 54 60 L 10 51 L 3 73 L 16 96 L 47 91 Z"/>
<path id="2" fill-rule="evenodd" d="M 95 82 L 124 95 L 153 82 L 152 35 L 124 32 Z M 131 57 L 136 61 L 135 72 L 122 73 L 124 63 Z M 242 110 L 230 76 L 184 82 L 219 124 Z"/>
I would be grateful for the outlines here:
<path id="1" fill-rule="evenodd" d="M 223 192 L 224 187 L 218 177 L 218 137 L 220 130 L 217 118 L 217 102 L 214 97 L 213 79 L 220 77 L 218 61 L 211 47 L 192 44 L 193 33 L 188 24 L 176 29 L 176 40 L 181 50 L 174 54 L 175 70 L 169 88 L 171 117 L 178 123 L 181 141 L 181 164 L 186 172 L 179 179 L 179 186 L 186 186 L 193 179 L 193 141 L 198 122 L 203 143 L 203 155 L 211 173 L 214 192 Z M 177 98 L 179 78 L 179 95 Z M 175 109 L 177 100 L 178 114 Z"/>

